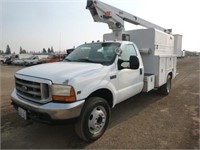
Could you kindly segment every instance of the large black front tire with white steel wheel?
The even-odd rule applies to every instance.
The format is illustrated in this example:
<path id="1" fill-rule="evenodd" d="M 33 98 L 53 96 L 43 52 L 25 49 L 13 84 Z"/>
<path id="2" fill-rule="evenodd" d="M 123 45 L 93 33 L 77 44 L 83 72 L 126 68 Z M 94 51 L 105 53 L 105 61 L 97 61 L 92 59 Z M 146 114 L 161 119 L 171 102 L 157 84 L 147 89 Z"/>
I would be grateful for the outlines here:
<path id="1" fill-rule="evenodd" d="M 107 129 L 110 119 L 110 106 L 101 97 L 89 98 L 75 124 L 76 134 L 86 142 L 99 139 Z"/>

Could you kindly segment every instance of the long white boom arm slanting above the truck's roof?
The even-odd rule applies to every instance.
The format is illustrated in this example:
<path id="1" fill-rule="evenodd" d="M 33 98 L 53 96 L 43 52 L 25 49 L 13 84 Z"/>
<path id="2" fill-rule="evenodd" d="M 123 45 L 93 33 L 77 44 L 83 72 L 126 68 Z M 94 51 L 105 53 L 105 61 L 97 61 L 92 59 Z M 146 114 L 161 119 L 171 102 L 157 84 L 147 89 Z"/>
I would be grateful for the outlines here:
<path id="1" fill-rule="evenodd" d="M 123 32 L 124 21 L 135 25 L 141 25 L 146 28 L 155 28 L 168 34 L 171 34 L 172 32 L 171 29 L 160 27 L 116 7 L 105 4 L 99 0 L 87 0 L 86 9 L 90 10 L 95 22 L 107 23 L 113 32 Z"/>

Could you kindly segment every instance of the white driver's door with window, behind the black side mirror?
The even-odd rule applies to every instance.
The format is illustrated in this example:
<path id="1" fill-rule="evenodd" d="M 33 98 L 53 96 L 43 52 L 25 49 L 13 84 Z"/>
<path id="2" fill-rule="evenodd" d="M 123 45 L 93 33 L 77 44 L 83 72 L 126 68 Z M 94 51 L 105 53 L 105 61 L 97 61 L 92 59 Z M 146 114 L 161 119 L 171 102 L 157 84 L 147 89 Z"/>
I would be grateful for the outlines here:
<path id="1" fill-rule="evenodd" d="M 122 46 L 122 54 L 119 59 L 129 61 L 130 56 L 137 56 L 140 60 L 140 67 L 138 69 L 130 69 L 129 62 L 121 64 L 123 69 L 118 70 L 117 79 L 117 103 L 126 100 L 137 93 L 140 93 L 143 88 L 143 63 L 138 51 L 133 44 L 124 44 Z"/>

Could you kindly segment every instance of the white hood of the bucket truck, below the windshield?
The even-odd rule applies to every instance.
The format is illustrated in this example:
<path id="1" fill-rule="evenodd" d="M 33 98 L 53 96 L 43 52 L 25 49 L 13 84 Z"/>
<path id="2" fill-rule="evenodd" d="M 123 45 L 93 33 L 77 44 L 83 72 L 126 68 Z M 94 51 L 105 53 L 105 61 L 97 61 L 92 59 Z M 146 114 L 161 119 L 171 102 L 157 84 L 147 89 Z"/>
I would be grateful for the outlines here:
<path id="1" fill-rule="evenodd" d="M 80 62 L 55 62 L 32 66 L 19 70 L 16 74 L 45 78 L 53 83 L 62 84 L 79 75 L 84 75 L 94 71 L 97 73 L 103 68 L 101 64 L 80 63 Z"/>

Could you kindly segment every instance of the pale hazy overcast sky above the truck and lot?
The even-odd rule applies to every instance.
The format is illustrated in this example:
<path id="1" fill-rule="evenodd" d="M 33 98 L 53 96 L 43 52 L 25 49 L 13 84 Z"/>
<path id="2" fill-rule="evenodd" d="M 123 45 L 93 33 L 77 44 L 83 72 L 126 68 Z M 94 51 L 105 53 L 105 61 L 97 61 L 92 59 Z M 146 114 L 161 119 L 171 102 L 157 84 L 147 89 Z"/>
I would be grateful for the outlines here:
<path id="1" fill-rule="evenodd" d="M 200 0 L 102 0 L 183 35 L 183 49 L 200 51 Z M 111 30 L 93 22 L 86 0 L 1 0 L 0 49 L 20 46 L 42 51 L 53 46 L 65 50 L 92 40 L 102 40 Z M 125 24 L 125 29 L 137 26 Z M 141 27 L 137 27 L 141 28 Z"/>

